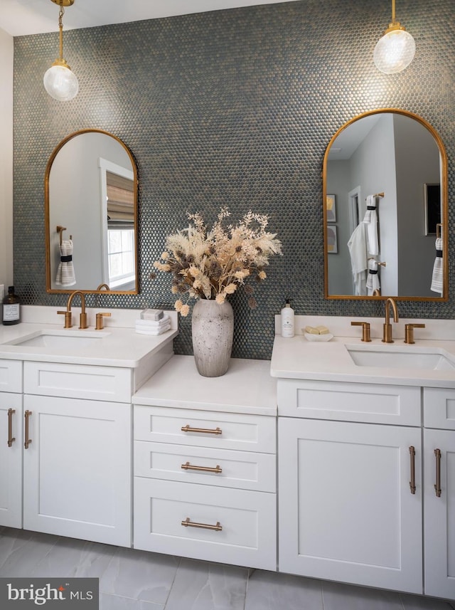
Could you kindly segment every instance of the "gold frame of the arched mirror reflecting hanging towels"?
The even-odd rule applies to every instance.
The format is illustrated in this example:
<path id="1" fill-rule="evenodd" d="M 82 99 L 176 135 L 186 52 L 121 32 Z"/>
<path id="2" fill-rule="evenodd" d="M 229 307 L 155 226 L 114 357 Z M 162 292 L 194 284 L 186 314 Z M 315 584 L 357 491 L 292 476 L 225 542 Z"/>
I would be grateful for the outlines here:
<path id="1" fill-rule="evenodd" d="M 352 125 L 354 122 L 362 119 L 363 117 L 368 117 L 371 115 L 385 114 L 385 113 L 394 113 L 399 115 L 404 115 L 406 117 L 410 117 L 421 125 L 423 125 L 434 137 L 435 142 L 437 143 L 437 147 L 439 149 L 440 155 L 440 164 L 441 164 L 441 237 L 443 241 L 443 283 L 444 290 L 440 297 L 417 297 L 417 296 L 399 296 L 399 295 L 378 295 L 378 296 L 363 296 L 363 295 L 329 295 L 328 294 L 328 248 L 327 248 L 327 209 L 326 209 L 326 196 L 327 196 L 327 163 L 328 163 L 328 154 L 332 147 L 333 142 L 335 142 L 338 135 L 341 134 L 344 130 L 346 130 L 349 125 Z M 331 141 L 328 143 L 328 147 L 323 157 L 323 169 L 322 169 L 322 201 L 323 201 L 323 243 L 324 243 L 324 297 L 326 299 L 338 299 L 338 300 L 384 300 L 387 299 L 388 296 L 392 296 L 394 300 L 407 300 L 407 301 L 436 301 L 443 302 L 449 299 L 449 259 L 448 259 L 448 236 L 447 236 L 447 224 L 449 220 L 448 214 L 448 179 L 447 179 L 447 154 L 444 148 L 444 144 L 442 143 L 441 137 L 434 130 L 432 125 L 429 124 L 426 120 L 419 115 L 414 114 L 413 112 L 407 112 L 407 110 L 400 110 L 397 108 L 382 108 L 380 110 L 370 110 L 369 112 L 363 112 L 361 115 L 353 117 L 353 119 L 349 120 L 342 125 L 338 129 L 338 131 L 333 135 Z M 445 229 L 445 230 L 444 230 Z"/>

